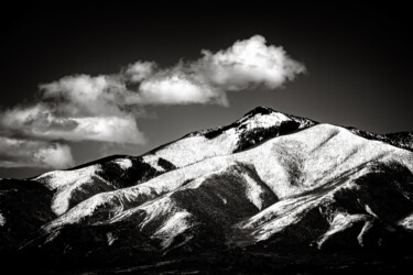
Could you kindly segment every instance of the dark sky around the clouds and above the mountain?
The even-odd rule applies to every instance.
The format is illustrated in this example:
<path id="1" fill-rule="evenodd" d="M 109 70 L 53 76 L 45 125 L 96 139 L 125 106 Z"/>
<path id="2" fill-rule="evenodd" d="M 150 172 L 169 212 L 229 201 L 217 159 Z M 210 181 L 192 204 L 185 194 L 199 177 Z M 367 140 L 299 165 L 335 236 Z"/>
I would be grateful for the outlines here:
<path id="1" fill-rule="evenodd" d="M 35 101 L 39 84 L 63 76 L 112 74 L 135 61 L 171 66 L 199 58 L 202 48 L 215 52 L 254 34 L 306 65 L 307 74 L 282 89 L 231 92 L 228 108 L 148 107 L 150 118 L 138 122 L 148 144 L 73 143 L 77 164 L 115 153 L 138 155 L 191 131 L 230 123 L 257 106 L 377 133 L 413 130 L 407 7 L 66 1 L 3 7 L 1 15 L 2 110 Z M 0 167 L 0 177 L 40 172 Z"/>

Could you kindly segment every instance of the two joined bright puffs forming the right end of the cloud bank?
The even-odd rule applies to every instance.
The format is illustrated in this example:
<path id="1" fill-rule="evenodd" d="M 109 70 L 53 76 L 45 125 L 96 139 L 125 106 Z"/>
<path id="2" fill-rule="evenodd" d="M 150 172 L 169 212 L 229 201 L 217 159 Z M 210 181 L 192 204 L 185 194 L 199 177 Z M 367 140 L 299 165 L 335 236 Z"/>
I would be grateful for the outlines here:
<path id="1" fill-rule="evenodd" d="M 261 35 L 238 41 L 217 53 L 203 50 L 198 61 L 178 63 L 175 67 L 141 77 L 142 103 L 220 103 L 228 105 L 227 92 L 256 88 L 269 89 L 293 80 L 305 66 L 282 47 L 267 45 Z M 141 63 L 137 64 L 138 67 Z"/>

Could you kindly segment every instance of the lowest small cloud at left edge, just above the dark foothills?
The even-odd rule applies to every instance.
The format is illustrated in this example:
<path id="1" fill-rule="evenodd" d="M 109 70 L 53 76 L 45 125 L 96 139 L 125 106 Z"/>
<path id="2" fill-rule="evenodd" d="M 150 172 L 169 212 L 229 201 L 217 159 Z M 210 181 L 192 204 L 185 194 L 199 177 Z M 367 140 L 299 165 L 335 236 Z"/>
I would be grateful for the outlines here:
<path id="1" fill-rule="evenodd" d="M 73 165 L 74 161 L 68 145 L 0 136 L 1 167 L 62 169 Z"/>

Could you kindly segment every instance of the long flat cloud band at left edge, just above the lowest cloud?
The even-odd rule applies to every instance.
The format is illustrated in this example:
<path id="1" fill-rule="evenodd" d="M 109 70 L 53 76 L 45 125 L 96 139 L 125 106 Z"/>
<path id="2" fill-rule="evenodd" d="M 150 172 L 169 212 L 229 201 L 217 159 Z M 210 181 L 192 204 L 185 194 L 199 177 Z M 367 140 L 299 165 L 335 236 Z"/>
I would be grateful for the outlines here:
<path id="1" fill-rule="evenodd" d="M 55 110 L 43 105 L 15 108 L 1 116 L 0 124 L 17 135 L 44 141 L 145 142 L 135 118 L 128 113 L 121 117 L 57 117 L 53 112 Z"/>

